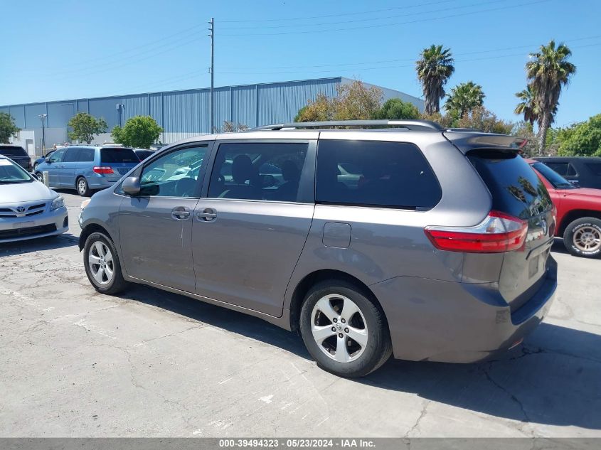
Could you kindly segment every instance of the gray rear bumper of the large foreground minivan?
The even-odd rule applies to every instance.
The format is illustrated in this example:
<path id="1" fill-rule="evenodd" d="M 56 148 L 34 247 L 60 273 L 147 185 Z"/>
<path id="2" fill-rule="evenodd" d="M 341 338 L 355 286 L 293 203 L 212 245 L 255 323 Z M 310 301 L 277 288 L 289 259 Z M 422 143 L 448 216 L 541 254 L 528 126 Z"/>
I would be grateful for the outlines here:
<path id="1" fill-rule="evenodd" d="M 496 284 L 397 277 L 370 287 L 395 358 L 474 363 L 509 350 L 541 323 L 555 296 L 557 263 L 548 258 L 545 281 L 513 314 Z"/>

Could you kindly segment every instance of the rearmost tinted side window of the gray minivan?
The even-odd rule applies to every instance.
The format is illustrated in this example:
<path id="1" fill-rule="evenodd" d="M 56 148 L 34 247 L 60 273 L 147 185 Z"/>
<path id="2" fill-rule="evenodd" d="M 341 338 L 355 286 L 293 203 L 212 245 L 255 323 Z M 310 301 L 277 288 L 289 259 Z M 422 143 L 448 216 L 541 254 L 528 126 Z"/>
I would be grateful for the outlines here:
<path id="1" fill-rule="evenodd" d="M 414 144 L 319 141 L 317 202 L 415 209 L 440 198 L 440 184 Z"/>

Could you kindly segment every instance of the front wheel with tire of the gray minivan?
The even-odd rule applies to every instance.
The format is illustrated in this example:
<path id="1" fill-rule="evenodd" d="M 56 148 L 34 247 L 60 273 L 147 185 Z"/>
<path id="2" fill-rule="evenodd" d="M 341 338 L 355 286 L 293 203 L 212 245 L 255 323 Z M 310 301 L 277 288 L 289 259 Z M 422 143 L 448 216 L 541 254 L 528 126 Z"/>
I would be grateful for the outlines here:
<path id="1" fill-rule="evenodd" d="M 83 264 L 90 284 L 102 294 L 114 295 L 127 288 L 117 249 L 110 237 L 93 232 L 85 240 Z"/>

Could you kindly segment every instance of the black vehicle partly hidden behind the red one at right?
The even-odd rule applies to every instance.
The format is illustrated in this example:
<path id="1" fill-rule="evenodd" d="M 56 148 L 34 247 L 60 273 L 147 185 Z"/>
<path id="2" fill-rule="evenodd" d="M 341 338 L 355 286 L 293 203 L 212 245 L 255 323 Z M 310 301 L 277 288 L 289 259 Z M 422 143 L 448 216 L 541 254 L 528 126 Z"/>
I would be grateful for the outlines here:
<path id="1" fill-rule="evenodd" d="M 544 156 L 534 158 L 580 188 L 601 189 L 601 158 Z"/>

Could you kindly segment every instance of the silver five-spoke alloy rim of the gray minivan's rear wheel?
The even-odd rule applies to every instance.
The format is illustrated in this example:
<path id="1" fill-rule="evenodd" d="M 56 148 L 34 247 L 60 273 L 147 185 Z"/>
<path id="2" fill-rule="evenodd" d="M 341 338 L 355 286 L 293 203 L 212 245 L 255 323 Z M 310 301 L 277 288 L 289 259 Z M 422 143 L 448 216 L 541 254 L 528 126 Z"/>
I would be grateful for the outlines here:
<path id="1" fill-rule="evenodd" d="M 319 349 L 339 363 L 358 359 L 368 341 L 361 310 L 340 294 L 329 294 L 317 301 L 311 315 L 311 332 Z"/>

